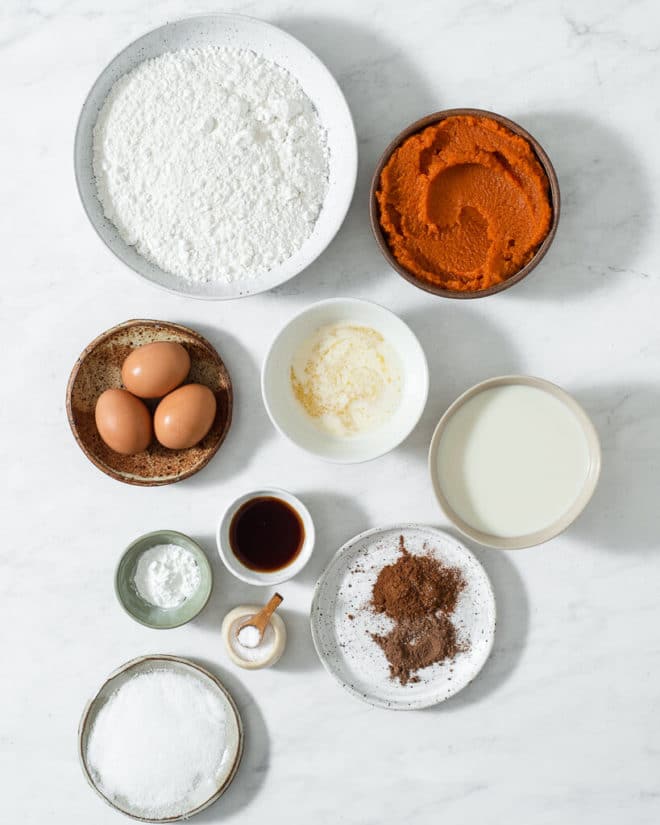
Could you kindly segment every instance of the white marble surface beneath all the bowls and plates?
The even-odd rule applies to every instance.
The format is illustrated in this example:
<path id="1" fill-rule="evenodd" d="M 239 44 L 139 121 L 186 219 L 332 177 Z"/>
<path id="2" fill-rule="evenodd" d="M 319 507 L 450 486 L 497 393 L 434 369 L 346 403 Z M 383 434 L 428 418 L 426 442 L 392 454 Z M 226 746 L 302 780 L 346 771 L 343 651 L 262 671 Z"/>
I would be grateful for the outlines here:
<path id="1" fill-rule="evenodd" d="M 226 796 L 199 823 L 651 825 L 660 821 L 660 8 L 654 0 L 262 0 L 235 10 L 273 21 L 336 74 L 360 140 L 355 200 L 336 241 L 275 293 L 203 304 L 135 279 L 96 238 L 72 173 L 83 97 L 145 30 L 217 3 L 5 0 L 0 30 L 3 541 L 0 788 L 7 825 L 119 823 L 83 781 L 76 728 L 115 666 L 148 652 L 194 657 L 234 692 L 247 750 Z M 447 302 L 388 269 L 366 193 L 376 158 L 410 120 L 491 108 L 545 144 L 563 214 L 523 284 Z M 427 412 L 379 461 L 326 466 L 266 418 L 258 370 L 295 310 L 319 298 L 373 298 L 419 334 L 432 367 Z M 101 330 L 130 317 L 188 323 L 226 358 L 236 385 L 228 440 L 196 478 L 135 489 L 97 472 L 64 413 L 69 370 Z M 536 550 L 479 553 L 500 622 L 481 677 L 437 709 L 363 705 L 312 649 L 312 584 L 356 532 L 393 520 L 443 523 L 425 469 L 433 426 L 475 381 L 505 372 L 554 380 L 602 436 L 600 488 L 582 519 Z M 214 558 L 223 505 L 275 483 L 300 494 L 318 547 L 282 588 L 290 644 L 269 672 L 234 668 L 219 626 L 259 594 L 217 561 L 194 624 L 142 628 L 116 604 L 112 574 L 136 535 L 174 527 Z"/>

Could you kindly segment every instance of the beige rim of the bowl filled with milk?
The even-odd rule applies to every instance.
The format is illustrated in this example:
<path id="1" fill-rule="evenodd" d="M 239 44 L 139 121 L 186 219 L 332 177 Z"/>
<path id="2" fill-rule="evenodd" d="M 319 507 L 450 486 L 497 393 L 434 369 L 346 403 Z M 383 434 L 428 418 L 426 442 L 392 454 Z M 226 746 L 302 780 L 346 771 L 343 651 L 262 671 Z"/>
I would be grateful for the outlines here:
<path id="1" fill-rule="evenodd" d="M 447 501 L 438 478 L 436 471 L 438 449 L 440 440 L 447 426 L 450 418 L 470 399 L 493 387 L 514 386 L 521 385 L 526 387 L 534 387 L 549 393 L 554 398 L 561 401 L 565 407 L 574 415 L 578 423 L 582 427 L 582 431 L 587 440 L 587 449 L 589 451 L 589 469 L 587 477 L 584 481 L 583 487 L 575 498 L 574 502 L 568 510 L 556 519 L 552 524 L 544 527 L 541 530 L 536 530 L 533 533 L 527 533 L 522 536 L 495 536 L 491 533 L 486 533 L 483 530 L 478 530 L 472 527 L 468 522 L 464 521 Z M 556 538 L 582 514 L 586 506 L 591 501 L 593 494 L 598 485 L 600 478 L 602 464 L 602 451 L 600 446 L 600 439 L 598 432 L 594 426 L 593 421 L 587 414 L 584 407 L 576 401 L 576 399 L 568 393 L 563 387 L 546 380 L 545 378 L 537 378 L 533 375 L 499 375 L 493 378 L 487 378 L 485 381 L 480 381 L 478 384 L 470 387 L 461 393 L 458 398 L 453 401 L 445 412 L 440 417 L 433 436 L 428 452 L 428 470 L 431 476 L 431 484 L 433 485 L 433 492 L 442 509 L 442 512 L 449 519 L 452 525 L 466 538 L 475 541 L 484 547 L 490 547 L 496 550 L 523 550 L 529 547 L 538 547 L 545 544 L 551 539 Z"/>

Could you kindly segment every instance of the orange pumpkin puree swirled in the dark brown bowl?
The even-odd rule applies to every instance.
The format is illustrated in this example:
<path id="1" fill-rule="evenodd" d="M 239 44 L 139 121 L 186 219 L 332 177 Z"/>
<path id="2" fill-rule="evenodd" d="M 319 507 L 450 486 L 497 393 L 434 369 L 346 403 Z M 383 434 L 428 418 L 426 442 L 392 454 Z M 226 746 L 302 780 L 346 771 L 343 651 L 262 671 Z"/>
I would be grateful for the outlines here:
<path id="1" fill-rule="evenodd" d="M 529 142 L 487 117 L 457 115 L 399 146 L 376 192 L 397 261 L 445 289 L 514 275 L 550 230 L 548 178 Z"/>

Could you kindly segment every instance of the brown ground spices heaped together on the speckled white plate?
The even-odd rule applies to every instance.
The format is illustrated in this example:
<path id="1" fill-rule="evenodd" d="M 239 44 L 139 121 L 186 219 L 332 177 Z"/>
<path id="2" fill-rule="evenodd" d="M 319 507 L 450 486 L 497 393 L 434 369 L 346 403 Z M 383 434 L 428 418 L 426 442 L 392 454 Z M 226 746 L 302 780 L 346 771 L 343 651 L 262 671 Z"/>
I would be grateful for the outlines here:
<path id="1" fill-rule="evenodd" d="M 418 682 L 417 671 L 465 650 L 450 618 L 465 587 L 462 572 L 434 556 L 413 556 L 399 539 L 401 556 L 378 574 L 372 607 L 394 622 L 386 635 L 372 634 L 401 684 Z"/>

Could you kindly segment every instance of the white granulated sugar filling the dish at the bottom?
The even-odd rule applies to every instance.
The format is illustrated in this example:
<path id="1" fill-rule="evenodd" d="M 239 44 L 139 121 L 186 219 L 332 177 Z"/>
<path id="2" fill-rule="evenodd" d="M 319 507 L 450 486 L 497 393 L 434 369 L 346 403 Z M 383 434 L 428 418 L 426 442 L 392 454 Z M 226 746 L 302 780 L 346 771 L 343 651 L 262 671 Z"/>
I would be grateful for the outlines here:
<path id="1" fill-rule="evenodd" d="M 197 807 L 218 788 L 225 707 L 202 679 L 153 670 L 130 678 L 101 708 L 87 743 L 100 790 L 148 818 Z"/>

